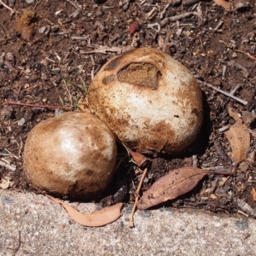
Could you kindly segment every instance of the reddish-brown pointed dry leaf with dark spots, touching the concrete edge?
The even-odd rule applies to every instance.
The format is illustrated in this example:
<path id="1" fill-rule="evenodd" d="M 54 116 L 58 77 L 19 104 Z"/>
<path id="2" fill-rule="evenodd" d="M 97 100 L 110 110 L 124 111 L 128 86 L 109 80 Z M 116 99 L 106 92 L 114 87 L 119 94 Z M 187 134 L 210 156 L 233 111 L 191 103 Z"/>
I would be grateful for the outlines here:
<path id="1" fill-rule="evenodd" d="M 160 177 L 144 194 L 137 208 L 145 210 L 161 202 L 172 200 L 194 189 L 207 175 L 206 171 L 195 167 L 183 167 Z"/>

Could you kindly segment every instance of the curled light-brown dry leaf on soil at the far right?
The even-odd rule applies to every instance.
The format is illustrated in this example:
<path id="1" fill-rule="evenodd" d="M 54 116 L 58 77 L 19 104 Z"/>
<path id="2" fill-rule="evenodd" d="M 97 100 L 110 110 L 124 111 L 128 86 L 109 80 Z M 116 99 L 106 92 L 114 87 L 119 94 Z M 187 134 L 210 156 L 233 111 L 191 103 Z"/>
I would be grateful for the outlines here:
<path id="1" fill-rule="evenodd" d="M 232 148 L 232 157 L 236 164 L 240 163 L 247 157 L 250 148 L 250 133 L 247 125 L 242 124 L 237 113 L 229 108 L 230 116 L 236 119 L 236 123 L 230 126 L 229 131 L 225 131 L 225 136 L 230 142 Z"/>

